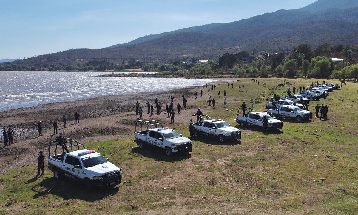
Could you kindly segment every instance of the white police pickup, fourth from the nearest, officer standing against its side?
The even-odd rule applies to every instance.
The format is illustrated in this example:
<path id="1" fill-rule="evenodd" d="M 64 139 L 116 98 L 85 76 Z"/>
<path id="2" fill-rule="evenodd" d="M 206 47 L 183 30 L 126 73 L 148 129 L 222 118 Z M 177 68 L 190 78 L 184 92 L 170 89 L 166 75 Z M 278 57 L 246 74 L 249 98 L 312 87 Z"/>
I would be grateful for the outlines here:
<path id="1" fill-rule="evenodd" d="M 282 121 L 278 119 L 274 119 L 266 112 L 256 112 L 252 108 L 246 108 L 244 109 L 245 112 L 243 116 L 241 116 L 240 115 L 241 111 L 242 111 L 242 107 L 239 108 L 236 116 L 236 122 L 239 123 L 241 127 L 244 127 L 246 125 L 254 125 L 254 126 L 262 127 L 264 131 L 267 131 L 269 129 L 275 129 L 275 130 L 282 129 Z M 265 116 L 267 119 L 267 126 L 263 126 L 264 123 L 263 117 Z"/>

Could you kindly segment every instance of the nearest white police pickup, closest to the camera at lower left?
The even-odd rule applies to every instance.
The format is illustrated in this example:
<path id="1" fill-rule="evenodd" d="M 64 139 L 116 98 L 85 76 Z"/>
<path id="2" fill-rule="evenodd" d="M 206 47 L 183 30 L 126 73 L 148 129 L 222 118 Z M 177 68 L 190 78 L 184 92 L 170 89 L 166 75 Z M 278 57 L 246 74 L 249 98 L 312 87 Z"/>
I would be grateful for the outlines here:
<path id="1" fill-rule="evenodd" d="M 88 189 L 93 187 L 114 187 L 122 180 L 122 169 L 108 162 L 95 150 L 85 149 L 84 145 L 69 138 L 65 139 L 67 146 L 51 141 L 48 147 L 48 167 L 56 179 L 68 177 L 83 181 Z M 59 147 L 58 147 L 59 146 Z M 59 148 L 59 149 L 58 149 Z M 70 149 L 64 153 L 64 149 Z M 57 154 L 57 151 L 61 152 Z"/>

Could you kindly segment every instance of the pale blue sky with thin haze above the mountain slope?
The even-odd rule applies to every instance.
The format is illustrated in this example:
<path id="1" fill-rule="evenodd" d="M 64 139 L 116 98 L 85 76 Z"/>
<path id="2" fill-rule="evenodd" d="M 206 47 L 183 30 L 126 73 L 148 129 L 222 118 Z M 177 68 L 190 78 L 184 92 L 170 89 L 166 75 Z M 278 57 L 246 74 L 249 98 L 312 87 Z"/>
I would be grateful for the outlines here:
<path id="1" fill-rule="evenodd" d="M 141 36 L 229 23 L 316 0 L 0 0 L 0 59 L 100 49 Z"/>

